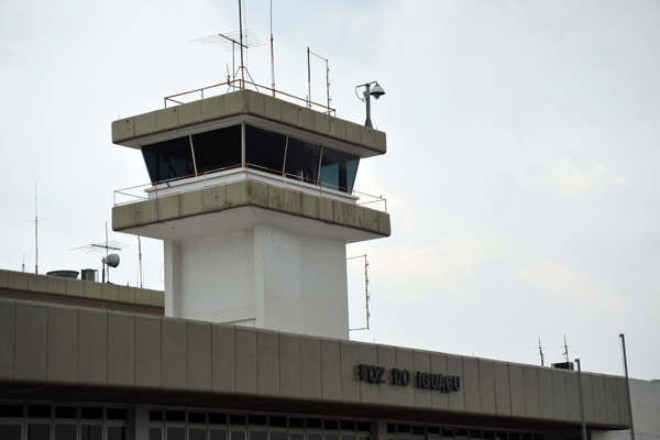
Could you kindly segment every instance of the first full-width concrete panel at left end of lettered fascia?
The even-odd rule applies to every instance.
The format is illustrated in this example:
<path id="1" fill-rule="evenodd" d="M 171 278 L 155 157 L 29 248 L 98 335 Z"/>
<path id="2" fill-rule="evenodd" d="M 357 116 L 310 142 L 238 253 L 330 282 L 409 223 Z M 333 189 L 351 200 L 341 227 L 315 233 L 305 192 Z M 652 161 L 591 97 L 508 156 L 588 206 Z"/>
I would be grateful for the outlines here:
<path id="1" fill-rule="evenodd" d="M 16 302 L 14 378 L 46 380 L 48 309 L 44 305 Z"/>

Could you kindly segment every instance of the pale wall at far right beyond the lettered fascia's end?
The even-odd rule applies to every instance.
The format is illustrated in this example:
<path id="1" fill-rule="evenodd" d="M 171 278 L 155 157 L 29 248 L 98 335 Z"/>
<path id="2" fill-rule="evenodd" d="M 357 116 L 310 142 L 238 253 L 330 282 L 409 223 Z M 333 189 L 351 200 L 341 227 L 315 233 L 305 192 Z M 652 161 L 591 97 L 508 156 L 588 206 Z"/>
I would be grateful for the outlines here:
<path id="1" fill-rule="evenodd" d="M 660 381 L 630 380 L 636 440 L 660 439 Z M 593 431 L 592 440 L 629 440 L 630 430 Z"/>

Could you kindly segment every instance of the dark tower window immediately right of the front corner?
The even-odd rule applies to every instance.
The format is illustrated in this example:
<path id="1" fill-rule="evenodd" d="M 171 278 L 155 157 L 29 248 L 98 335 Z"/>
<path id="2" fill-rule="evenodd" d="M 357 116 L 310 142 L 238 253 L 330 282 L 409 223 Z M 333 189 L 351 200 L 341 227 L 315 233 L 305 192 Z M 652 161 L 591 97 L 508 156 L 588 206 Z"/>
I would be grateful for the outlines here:
<path id="1" fill-rule="evenodd" d="M 280 174 L 284 169 L 286 135 L 245 125 L 245 162 L 257 169 Z"/>

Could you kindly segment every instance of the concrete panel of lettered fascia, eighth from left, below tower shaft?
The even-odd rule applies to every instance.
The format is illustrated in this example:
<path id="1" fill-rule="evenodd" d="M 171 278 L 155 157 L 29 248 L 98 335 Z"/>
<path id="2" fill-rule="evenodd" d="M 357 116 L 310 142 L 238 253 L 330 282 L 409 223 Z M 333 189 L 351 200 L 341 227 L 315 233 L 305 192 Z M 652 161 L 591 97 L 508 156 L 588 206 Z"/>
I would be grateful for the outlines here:
<path id="1" fill-rule="evenodd" d="M 211 324 L 188 321 L 188 389 L 211 389 Z"/>

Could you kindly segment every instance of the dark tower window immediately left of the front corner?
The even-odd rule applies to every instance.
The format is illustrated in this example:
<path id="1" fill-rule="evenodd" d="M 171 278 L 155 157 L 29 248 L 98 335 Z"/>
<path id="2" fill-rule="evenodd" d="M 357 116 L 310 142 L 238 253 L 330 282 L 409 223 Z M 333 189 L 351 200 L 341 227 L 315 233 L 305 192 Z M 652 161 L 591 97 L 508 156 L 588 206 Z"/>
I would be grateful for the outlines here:
<path id="1" fill-rule="evenodd" d="M 193 134 L 197 173 L 240 165 L 241 125 Z"/>

